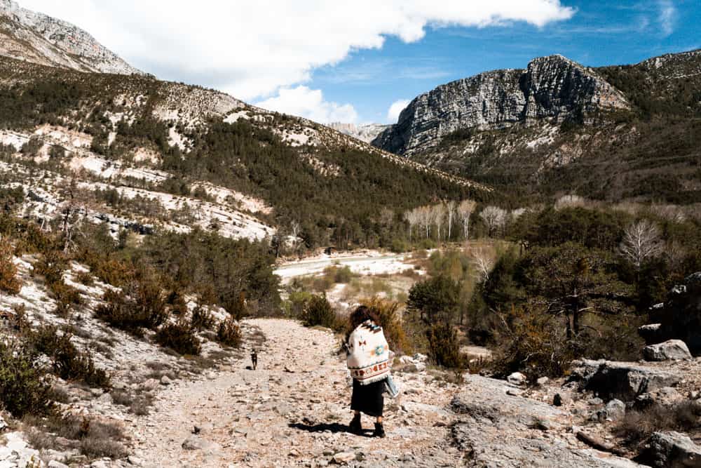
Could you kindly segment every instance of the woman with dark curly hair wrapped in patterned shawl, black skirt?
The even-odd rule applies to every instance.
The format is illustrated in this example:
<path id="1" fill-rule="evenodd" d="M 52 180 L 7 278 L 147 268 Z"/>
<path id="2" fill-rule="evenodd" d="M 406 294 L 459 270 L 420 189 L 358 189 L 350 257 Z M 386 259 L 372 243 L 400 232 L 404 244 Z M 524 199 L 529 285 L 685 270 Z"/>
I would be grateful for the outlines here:
<path id="1" fill-rule="evenodd" d="M 353 377 L 351 432 L 362 434 L 360 413 L 376 417 L 374 437 L 384 437 L 382 410 L 386 380 L 390 376 L 390 349 L 377 315 L 361 305 L 351 314 L 351 333 L 346 337 L 348 370 Z M 393 353 L 392 353 L 393 354 Z"/>

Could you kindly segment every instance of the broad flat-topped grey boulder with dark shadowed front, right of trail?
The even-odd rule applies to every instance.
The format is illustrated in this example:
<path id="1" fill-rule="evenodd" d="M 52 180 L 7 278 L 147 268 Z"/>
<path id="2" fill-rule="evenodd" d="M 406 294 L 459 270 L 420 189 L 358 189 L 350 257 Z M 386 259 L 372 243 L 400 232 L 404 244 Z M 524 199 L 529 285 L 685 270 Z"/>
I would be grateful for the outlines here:
<path id="1" fill-rule="evenodd" d="M 605 399 L 633 401 L 646 392 L 674 387 L 681 375 L 667 370 L 641 366 L 636 363 L 615 361 L 578 361 L 573 378 L 580 380 L 584 389 Z"/>

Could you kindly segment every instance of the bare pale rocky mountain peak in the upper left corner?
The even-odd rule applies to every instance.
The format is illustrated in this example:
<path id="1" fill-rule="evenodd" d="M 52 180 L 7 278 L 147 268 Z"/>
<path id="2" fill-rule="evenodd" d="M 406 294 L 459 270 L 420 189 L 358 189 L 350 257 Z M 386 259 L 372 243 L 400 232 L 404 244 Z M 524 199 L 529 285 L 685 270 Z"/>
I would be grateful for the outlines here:
<path id="1" fill-rule="evenodd" d="M 140 74 L 68 22 L 0 0 L 0 55 L 82 72 Z"/>

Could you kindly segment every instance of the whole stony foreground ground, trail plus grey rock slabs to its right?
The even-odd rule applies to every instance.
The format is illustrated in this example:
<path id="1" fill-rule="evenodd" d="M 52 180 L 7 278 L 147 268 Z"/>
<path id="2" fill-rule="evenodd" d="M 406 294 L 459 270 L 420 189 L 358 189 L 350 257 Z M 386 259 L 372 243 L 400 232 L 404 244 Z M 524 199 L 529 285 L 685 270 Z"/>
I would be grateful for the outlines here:
<path id="1" fill-rule="evenodd" d="M 468 375 L 458 387 L 431 370 L 395 373 L 402 394 L 386 400 L 386 439 L 355 436 L 346 432 L 351 389 L 336 337 L 294 321 L 247 323 L 266 336 L 255 345 L 258 369 L 247 368 L 250 361 L 244 359 L 163 389 L 150 415 L 128 422 L 133 462 L 147 467 L 512 467 L 524 462 L 555 467 L 568 460 L 573 466 L 635 466 L 587 450 L 571 435 L 534 428 L 534 418 L 564 427 L 571 415 L 507 394 L 507 382 Z M 363 424 L 369 435 L 372 420 L 364 417 Z"/>

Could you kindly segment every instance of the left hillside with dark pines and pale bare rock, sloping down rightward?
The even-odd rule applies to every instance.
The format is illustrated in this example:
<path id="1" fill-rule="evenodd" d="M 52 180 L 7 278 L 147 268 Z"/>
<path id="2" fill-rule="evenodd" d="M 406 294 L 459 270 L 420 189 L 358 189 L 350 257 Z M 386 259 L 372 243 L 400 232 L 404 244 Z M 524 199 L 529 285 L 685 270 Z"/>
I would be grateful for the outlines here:
<path id="1" fill-rule="evenodd" d="M 55 212 L 76 178 L 95 219 L 140 231 L 198 225 L 261 239 L 294 222 L 307 246 L 376 245 L 368 223 L 383 207 L 398 217 L 490 194 L 317 123 L 137 74 L 2 58 L 0 128 L 4 187 L 22 187 L 22 213 Z"/>

